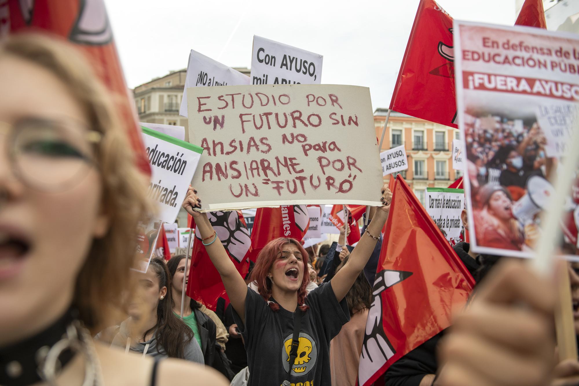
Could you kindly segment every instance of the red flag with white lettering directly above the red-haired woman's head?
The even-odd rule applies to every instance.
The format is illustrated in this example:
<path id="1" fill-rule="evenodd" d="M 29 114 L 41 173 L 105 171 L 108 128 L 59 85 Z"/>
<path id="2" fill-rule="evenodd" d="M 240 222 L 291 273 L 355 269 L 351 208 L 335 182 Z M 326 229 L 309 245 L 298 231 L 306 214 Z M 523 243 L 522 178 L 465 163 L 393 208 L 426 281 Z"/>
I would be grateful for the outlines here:
<path id="1" fill-rule="evenodd" d="M 310 227 L 310 216 L 306 205 L 282 205 L 279 208 L 258 208 L 251 230 L 250 260 L 255 262 L 259 251 L 278 237 L 303 240 Z"/>

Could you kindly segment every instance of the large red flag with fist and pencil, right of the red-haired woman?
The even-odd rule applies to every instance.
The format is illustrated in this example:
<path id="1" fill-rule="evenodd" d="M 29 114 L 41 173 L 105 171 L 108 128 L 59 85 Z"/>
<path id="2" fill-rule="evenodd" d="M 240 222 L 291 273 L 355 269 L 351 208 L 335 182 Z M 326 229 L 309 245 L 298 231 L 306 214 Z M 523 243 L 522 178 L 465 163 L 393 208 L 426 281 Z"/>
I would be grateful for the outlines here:
<path id="1" fill-rule="evenodd" d="M 474 279 L 399 175 L 373 286 L 358 379 L 369 385 L 392 363 L 450 326 Z"/>

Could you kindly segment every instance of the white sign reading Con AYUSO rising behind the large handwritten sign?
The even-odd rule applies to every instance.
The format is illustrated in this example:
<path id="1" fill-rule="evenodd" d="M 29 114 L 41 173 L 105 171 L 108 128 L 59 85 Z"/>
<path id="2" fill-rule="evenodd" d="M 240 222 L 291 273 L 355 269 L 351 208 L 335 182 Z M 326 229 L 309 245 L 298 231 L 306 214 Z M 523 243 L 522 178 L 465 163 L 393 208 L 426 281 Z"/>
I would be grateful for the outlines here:
<path id="1" fill-rule="evenodd" d="M 254 36 L 251 84 L 320 84 L 323 56 Z"/>

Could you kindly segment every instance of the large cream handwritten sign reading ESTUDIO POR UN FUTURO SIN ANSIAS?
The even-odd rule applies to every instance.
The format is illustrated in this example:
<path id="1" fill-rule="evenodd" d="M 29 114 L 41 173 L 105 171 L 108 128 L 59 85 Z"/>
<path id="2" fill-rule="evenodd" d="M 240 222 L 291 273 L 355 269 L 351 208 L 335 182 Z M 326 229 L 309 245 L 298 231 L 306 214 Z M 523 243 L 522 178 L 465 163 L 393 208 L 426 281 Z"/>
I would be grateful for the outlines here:
<path id="1" fill-rule="evenodd" d="M 189 140 L 205 149 L 193 177 L 193 186 L 207 192 L 203 211 L 379 204 L 382 171 L 367 87 L 280 84 L 187 92 Z"/>

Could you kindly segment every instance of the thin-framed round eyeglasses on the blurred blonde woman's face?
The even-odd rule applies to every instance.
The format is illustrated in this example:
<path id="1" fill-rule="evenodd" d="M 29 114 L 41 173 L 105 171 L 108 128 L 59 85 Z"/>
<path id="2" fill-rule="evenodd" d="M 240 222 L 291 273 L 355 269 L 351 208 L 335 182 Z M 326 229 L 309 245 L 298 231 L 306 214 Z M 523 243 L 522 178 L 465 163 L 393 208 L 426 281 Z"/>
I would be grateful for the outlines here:
<path id="1" fill-rule="evenodd" d="M 74 120 L 25 117 L 0 122 L 14 175 L 29 188 L 45 192 L 71 189 L 96 165 L 94 144 L 102 134 Z"/>

